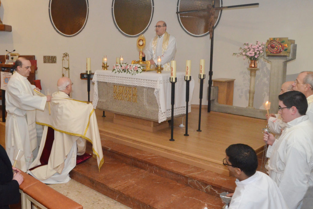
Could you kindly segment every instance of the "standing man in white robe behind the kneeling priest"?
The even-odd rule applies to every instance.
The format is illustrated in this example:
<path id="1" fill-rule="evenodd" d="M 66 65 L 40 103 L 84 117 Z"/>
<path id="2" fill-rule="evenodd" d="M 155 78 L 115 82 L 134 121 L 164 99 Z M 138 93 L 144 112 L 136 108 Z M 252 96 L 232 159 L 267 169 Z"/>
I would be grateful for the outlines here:
<path id="1" fill-rule="evenodd" d="M 36 133 L 36 109 L 44 110 L 50 96 L 36 96 L 37 89 L 27 80 L 31 72 L 29 60 L 20 57 L 15 61 L 16 71 L 10 78 L 5 92 L 7 119 L 5 123 L 5 147 L 11 163 L 14 150 L 22 150 L 24 155 L 16 167 L 26 172 L 38 153 Z"/>

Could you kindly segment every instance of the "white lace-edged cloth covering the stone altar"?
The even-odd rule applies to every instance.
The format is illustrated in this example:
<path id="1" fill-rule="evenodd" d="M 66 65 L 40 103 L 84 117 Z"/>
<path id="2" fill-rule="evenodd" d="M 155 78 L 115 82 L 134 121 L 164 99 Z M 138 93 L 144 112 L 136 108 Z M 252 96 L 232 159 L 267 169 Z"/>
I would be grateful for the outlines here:
<path id="1" fill-rule="evenodd" d="M 175 83 L 175 105 L 174 115 L 186 113 L 186 81 L 184 80 L 185 72 L 177 72 L 177 82 Z M 96 108 L 98 97 L 98 82 L 119 83 L 124 85 L 142 86 L 154 88 L 154 95 L 159 106 L 158 119 L 159 123 L 171 117 L 171 83 L 170 73 L 156 71 L 142 72 L 136 75 L 126 73 L 114 73 L 110 70 L 97 70 L 92 82 L 94 86 L 94 98 L 92 104 Z M 194 88 L 193 78 L 189 82 L 189 104 L 188 112 L 191 112 L 191 99 Z"/>

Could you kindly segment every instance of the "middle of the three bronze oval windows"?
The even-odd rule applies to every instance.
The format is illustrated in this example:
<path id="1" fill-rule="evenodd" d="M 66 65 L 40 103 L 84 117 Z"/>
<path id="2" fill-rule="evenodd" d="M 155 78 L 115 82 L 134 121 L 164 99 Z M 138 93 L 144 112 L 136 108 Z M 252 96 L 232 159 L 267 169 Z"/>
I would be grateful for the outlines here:
<path id="1" fill-rule="evenodd" d="M 113 0 L 113 22 L 123 35 L 139 36 L 148 29 L 153 9 L 153 0 Z"/>

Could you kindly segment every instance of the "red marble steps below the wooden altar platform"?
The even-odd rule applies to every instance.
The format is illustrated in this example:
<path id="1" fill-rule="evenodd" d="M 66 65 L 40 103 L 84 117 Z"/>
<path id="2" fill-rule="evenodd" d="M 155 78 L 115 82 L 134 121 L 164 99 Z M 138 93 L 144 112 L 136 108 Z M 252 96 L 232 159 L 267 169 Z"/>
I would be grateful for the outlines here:
<path id="1" fill-rule="evenodd" d="M 233 178 L 102 140 L 104 164 L 76 166 L 71 178 L 131 208 L 221 208 L 218 193 L 233 191 Z M 90 145 L 87 152 L 90 152 Z"/>

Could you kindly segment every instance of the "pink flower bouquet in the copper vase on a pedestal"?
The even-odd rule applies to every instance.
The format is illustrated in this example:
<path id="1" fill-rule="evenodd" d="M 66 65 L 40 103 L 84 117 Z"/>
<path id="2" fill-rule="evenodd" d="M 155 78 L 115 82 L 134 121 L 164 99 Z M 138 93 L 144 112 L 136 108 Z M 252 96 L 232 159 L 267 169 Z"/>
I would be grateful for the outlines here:
<path id="1" fill-rule="evenodd" d="M 249 44 L 248 42 L 244 43 L 244 47 L 239 48 L 238 53 L 233 53 L 234 56 L 243 56 L 244 59 L 248 58 L 249 60 L 259 60 L 264 55 L 264 45 L 265 42 L 256 41 L 256 44 Z"/>

